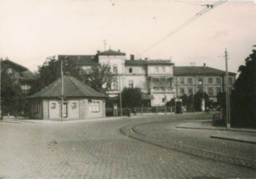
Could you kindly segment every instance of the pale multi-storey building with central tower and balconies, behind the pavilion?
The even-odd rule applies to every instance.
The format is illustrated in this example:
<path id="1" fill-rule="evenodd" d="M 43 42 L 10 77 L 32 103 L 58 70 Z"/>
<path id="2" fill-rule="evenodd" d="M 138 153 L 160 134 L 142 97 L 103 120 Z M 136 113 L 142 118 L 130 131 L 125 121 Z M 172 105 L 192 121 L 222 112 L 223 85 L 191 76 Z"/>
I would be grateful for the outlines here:
<path id="1" fill-rule="evenodd" d="M 124 87 L 140 87 L 144 103 L 151 106 L 164 106 L 164 101 L 175 97 L 171 60 L 135 60 L 134 55 L 127 60 L 125 55 L 120 50 L 107 50 L 97 51 L 97 55 L 59 55 L 58 58 L 68 57 L 83 69 L 109 64 L 118 77 L 108 91 L 111 98 L 117 97 Z"/>

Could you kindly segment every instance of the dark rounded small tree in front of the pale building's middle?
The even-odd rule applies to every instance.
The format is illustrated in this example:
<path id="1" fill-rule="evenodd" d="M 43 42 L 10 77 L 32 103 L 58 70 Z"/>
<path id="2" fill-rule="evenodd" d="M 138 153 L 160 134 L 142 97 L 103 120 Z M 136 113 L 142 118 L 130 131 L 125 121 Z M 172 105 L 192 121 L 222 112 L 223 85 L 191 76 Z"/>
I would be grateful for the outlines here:
<path id="1" fill-rule="evenodd" d="M 124 90 L 122 90 L 122 106 L 124 108 L 139 107 L 141 104 L 142 99 L 140 88 L 125 87 Z"/>

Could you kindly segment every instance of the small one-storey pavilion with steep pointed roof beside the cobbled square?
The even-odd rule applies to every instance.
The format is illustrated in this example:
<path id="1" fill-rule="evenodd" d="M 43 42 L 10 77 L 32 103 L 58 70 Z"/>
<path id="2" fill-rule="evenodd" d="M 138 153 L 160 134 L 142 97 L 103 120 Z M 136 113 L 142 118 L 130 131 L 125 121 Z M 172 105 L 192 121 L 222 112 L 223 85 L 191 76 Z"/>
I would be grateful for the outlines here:
<path id="1" fill-rule="evenodd" d="M 93 90 L 67 73 L 63 77 L 63 87 L 62 78 L 59 78 L 43 90 L 29 96 L 31 118 L 59 120 L 63 117 L 64 120 L 71 120 L 105 117 L 106 98 L 105 94 Z"/>

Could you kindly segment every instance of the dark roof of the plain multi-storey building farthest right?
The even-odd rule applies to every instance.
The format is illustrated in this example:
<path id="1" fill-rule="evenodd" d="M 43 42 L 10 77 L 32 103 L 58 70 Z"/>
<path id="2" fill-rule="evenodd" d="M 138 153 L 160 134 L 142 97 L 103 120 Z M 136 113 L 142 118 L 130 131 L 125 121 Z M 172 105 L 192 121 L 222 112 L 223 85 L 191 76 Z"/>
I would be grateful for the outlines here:
<path id="1" fill-rule="evenodd" d="M 221 76 L 225 71 L 208 66 L 173 66 L 173 76 Z M 236 73 L 229 72 L 235 76 Z"/>

